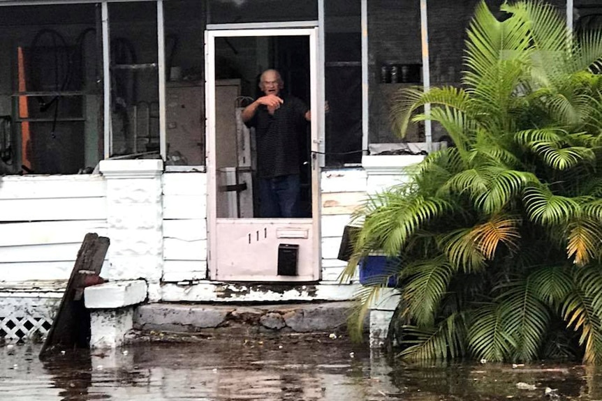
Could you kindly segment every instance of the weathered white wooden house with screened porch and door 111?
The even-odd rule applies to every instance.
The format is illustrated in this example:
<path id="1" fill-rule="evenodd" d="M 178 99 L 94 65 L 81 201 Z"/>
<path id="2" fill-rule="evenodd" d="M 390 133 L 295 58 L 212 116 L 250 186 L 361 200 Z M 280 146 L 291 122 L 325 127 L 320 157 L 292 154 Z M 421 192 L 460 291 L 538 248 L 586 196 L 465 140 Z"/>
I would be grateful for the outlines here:
<path id="1" fill-rule="evenodd" d="M 103 277 L 145 280 L 149 302 L 350 299 L 351 213 L 441 137 L 402 142 L 390 98 L 459 84 L 476 3 L 0 0 L 0 336 L 47 329 L 87 232 L 110 238 Z M 597 0 L 553 3 L 599 23 Z M 303 218 L 256 217 L 237 113 L 265 68 L 314 116 Z M 299 247 L 294 275 L 281 244 Z"/>

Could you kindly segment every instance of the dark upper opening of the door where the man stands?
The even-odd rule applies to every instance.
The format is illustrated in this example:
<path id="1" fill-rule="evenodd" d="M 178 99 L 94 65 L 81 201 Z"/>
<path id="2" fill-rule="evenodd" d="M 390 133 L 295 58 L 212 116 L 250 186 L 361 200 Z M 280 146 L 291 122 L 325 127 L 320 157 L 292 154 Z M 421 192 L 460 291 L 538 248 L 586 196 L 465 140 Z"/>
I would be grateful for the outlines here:
<path id="1" fill-rule="evenodd" d="M 311 135 L 304 117 L 310 107 L 309 36 L 216 38 L 215 53 L 216 216 L 311 217 Z M 258 106 L 245 124 L 242 111 L 265 96 L 260 81 L 271 68 L 279 71 L 284 104 L 273 113 Z M 298 195 L 282 194 L 289 179 Z M 262 190 L 261 181 L 272 191 Z"/>

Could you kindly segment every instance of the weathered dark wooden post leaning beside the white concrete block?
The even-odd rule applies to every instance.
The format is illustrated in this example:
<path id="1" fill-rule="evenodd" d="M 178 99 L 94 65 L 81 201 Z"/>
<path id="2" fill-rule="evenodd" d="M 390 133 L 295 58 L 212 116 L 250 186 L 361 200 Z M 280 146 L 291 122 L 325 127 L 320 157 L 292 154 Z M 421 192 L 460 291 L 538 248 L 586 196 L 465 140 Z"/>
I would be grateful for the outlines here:
<path id="1" fill-rule="evenodd" d="M 59 310 L 40 351 L 41 359 L 57 348 L 64 350 L 89 346 L 90 314 L 84 306 L 82 296 L 85 287 L 103 282 L 99 274 L 109 243 L 106 237 L 94 233 L 86 234 Z"/>

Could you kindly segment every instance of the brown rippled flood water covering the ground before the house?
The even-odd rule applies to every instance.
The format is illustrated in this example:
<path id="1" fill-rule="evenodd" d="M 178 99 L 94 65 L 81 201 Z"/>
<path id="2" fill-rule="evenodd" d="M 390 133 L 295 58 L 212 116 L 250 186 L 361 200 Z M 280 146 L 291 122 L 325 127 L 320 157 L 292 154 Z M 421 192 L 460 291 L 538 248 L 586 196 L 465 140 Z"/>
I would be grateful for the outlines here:
<path id="1" fill-rule="evenodd" d="M 582 365 L 390 364 L 328 335 L 65 351 L 44 362 L 40 348 L 2 347 L 0 400 L 602 400 L 601 372 Z"/>

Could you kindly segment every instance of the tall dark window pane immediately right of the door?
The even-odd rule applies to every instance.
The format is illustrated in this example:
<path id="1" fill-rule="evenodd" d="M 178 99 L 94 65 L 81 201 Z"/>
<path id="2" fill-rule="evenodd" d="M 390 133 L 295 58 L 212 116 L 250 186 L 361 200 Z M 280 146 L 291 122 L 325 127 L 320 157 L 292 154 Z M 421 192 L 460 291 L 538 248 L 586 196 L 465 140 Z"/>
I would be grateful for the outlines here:
<path id="1" fill-rule="evenodd" d="M 360 0 L 325 2 L 326 165 L 362 158 L 362 37 Z"/>

